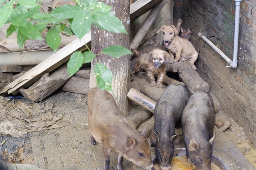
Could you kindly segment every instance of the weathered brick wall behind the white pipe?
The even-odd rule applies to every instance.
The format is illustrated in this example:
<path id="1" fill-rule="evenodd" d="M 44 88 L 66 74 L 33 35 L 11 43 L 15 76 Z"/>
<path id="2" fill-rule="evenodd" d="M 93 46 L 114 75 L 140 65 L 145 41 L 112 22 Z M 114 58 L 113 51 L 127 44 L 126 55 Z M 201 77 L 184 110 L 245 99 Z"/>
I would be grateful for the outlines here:
<path id="1" fill-rule="evenodd" d="M 227 61 L 197 34 L 202 32 L 230 59 L 233 59 L 234 0 L 174 0 L 174 22 L 192 27 L 192 44 L 199 52 L 197 72 L 209 83 L 210 91 L 220 100 L 220 108 L 244 128 L 256 146 L 256 0 L 243 0 L 237 68 L 226 68 Z"/>

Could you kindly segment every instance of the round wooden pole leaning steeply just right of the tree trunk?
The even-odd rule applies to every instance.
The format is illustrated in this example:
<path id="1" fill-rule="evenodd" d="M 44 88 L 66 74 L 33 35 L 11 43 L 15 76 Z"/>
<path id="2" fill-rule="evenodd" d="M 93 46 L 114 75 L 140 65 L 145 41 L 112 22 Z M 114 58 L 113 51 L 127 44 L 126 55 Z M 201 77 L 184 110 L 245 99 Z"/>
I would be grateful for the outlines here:
<path id="1" fill-rule="evenodd" d="M 133 38 L 133 41 L 130 44 L 130 49 L 134 48 L 137 49 L 140 42 L 142 41 L 142 39 L 144 38 L 144 36 L 147 34 L 147 32 L 149 31 L 150 26 L 153 24 L 154 20 L 156 19 L 157 15 L 159 14 L 159 12 L 162 10 L 162 8 L 164 7 L 164 5 L 166 4 L 167 0 L 162 0 L 161 2 L 157 3 L 152 10 L 150 11 L 149 15 L 147 16 L 146 20 L 144 21 L 144 23 L 142 24 L 142 26 L 140 27 L 139 31 L 137 32 L 137 34 L 135 35 L 135 37 Z M 135 3 L 133 3 L 135 4 Z M 132 4 L 132 5 L 133 5 Z M 131 58 L 132 56 L 130 56 Z"/>

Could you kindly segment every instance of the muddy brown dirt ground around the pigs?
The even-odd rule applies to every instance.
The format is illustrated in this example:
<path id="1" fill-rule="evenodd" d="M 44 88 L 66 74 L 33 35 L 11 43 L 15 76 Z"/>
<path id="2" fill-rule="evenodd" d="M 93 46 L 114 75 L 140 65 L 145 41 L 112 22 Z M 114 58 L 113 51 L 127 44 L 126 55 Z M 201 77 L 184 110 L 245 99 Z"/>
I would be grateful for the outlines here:
<path id="1" fill-rule="evenodd" d="M 6 98 L 5 98 L 6 99 Z M 8 102 L 17 104 L 19 101 L 29 105 L 26 99 L 11 99 Z M 29 132 L 23 137 L 13 137 L 0 134 L 0 158 L 9 163 L 28 163 L 44 170 L 101 170 L 104 166 L 104 156 L 98 144 L 92 148 L 88 132 L 87 96 L 78 93 L 56 91 L 47 99 L 39 102 L 41 107 L 52 103 L 53 116 L 63 114 L 68 117 L 62 123 L 64 127 L 43 131 Z M 137 106 L 137 110 L 143 109 Z M 3 113 L 1 110 L 1 114 Z M 131 109 L 130 114 L 137 112 Z M 61 120 L 60 120 L 61 121 Z M 232 120 L 230 120 L 232 121 Z M 218 128 L 216 128 L 218 129 Z M 227 131 L 227 136 L 235 146 L 248 143 L 242 130 L 234 121 Z M 2 141 L 5 143 L 2 143 Z M 224 139 L 223 139 L 224 141 Z M 239 148 L 244 155 L 251 154 L 251 147 L 244 145 Z M 152 148 L 154 156 L 154 148 Z M 117 153 L 112 151 L 111 169 L 116 169 Z M 254 156 L 255 158 L 255 156 Z M 255 161 L 255 159 L 254 159 Z M 124 170 L 140 169 L 124 159 Z"/>

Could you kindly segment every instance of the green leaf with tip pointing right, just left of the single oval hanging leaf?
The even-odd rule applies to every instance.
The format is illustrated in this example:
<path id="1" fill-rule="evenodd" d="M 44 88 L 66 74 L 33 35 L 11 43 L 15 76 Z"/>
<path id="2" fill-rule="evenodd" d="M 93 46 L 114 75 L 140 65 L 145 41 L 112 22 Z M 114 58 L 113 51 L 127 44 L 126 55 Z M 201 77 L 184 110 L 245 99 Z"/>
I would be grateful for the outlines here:
<path id="1" fill-rule="evenodd" d="M 30 23 L 26 23 L 25 26 L 19 27 L 19 31 L 29 39 L 43 40 L 41 33 Z"/>

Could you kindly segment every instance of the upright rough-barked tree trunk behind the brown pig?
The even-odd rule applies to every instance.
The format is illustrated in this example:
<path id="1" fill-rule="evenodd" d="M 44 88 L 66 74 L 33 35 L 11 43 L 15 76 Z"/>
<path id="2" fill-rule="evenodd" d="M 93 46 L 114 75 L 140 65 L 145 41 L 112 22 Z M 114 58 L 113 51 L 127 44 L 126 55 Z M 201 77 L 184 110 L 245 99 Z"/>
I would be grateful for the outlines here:
<path id="1" fill-rule="evenodd" d="M 121 20 L 128 35 L 102 31 L 98 27 L 92 26 L 92 52 L 97 54 L 102 49 L 113 45 L 121 45 L 130 49 L 130 0 L 103 2 L 112 7 L 112 14 Z M 97 61 L 104 64 L 112 72 L 113 93 L 111 93 L 124 116 L 128 116 L 128 99 L 126 94 L 130 89 L 130 55 L 116 59 L 100 54 L 97 56 Z M 90 88 L 97 87 L 96 75 L 93 71 L 95 64 L 96 61 L 94 59 L 91 66 Z"/>

